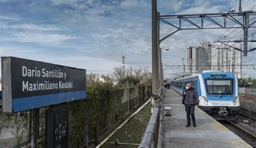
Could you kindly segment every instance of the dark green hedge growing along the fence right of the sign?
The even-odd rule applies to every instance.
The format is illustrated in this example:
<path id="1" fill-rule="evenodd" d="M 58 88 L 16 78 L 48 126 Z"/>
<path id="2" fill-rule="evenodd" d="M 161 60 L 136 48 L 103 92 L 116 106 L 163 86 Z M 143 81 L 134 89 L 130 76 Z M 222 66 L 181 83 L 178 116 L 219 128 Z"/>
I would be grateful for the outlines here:
<path id="1" fill-rule="evenodd" d="M 129 88 L 134 91 L 134 88 Z M 140 90 L 142 89 L 142 90 Z M 150 90 L 149 90 L 150 92 Z M 103 83 L 87 87 L 84 100 L 73 101 L 69 106 L 69 146 L 82 147 L 84 145 L 85 125 L 89 126 L 89 137 L 94 138 L 108 124 L 117 121 L 123 115 L 125 103 L 122 104 L 124 89 Z M 147 93 L 147 95 L 150 95 Z M 139 85 L 139 97 L 145 97 L 145 86 Z"/>

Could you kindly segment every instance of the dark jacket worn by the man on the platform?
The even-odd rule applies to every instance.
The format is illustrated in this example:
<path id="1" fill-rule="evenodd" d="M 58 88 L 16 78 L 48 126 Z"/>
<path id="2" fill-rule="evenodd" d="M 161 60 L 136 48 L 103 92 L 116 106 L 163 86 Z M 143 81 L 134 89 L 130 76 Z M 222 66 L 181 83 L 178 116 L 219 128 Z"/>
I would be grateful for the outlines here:
<path id="1" fill-rule="evenodd" d="M 186 92 L 186 95 L 184 93 Z M 199 98 L 197 94 L 197 90 L 191 87 L 188 90 L 185 90 L 183 92 L 183 104 L 185 105 L 198 105 L 199 104 Z"/>

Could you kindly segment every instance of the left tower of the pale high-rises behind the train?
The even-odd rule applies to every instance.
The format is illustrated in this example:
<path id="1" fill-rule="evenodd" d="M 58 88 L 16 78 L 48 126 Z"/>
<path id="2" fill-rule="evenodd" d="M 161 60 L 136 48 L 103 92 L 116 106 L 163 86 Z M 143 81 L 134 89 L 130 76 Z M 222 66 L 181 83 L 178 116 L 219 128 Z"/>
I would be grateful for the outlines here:
<path id="1" fill-rule="evenodd" d="M 196 73 L 207 68 L 207 51 L 200 46 L 187 48 L 187 69 L 186 73 Z"/>

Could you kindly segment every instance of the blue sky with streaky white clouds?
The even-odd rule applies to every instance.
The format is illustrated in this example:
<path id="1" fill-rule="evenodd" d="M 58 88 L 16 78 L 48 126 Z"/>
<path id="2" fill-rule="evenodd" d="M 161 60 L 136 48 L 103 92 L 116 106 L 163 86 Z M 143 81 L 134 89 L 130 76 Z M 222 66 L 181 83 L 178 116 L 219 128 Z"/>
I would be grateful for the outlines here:
<path id="1" fill-rule="evenodd" d="M 255 4 L 255 0 L 242 0 L 242 10 L 256 11 Z M 158 0 L 157 9 L 160 15 L 177 15 L 238 11 L 238 7 L 239 0 Z M 160 38 L 172 31 L 172 27 L 160 24 Z M 186 58 L 187 47 L 202 41 L 212 42 L 225 31 L 177 32 L 160 45 L 170 48 L 162 52 L 163 62 L 182 65 L 181 58 Z M 224 39 L 242 38 L 242 33 L 232 36 L 239 31 L 225 35 Z M 249 35 L 255 31 L 250 29 Z M 249 46 L 253 48 L 255 43 Z M 84 68 L 87 73 L 110 74 L 113 67 L 120 66 L 122 54 L 126 66 L 151 70 L 151 47 L 150 0 L 0 0 L 1 57 L 19 57 Z M 255 57 L 255 51 L 248 53 L 248 57 L 242 58 L 243 64 L 256 64 Z M 169 70 L 168 73 L 180 71 Z M 245 69 L 244 75 L 256 77 L 256 71 Z"/>

